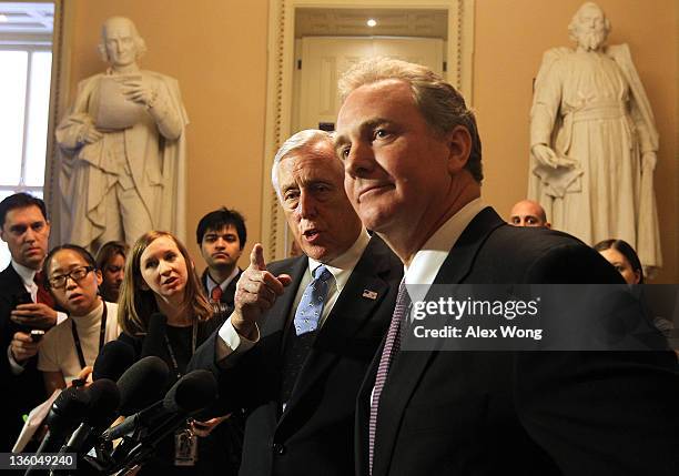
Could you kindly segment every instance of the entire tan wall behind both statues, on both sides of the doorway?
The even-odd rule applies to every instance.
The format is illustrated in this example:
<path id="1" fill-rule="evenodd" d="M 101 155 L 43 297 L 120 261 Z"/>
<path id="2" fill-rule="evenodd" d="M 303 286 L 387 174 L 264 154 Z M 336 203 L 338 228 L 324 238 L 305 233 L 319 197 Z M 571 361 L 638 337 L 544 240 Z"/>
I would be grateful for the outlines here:
<path id="1" fill-rule="evenodd" d="M 525 196 L 528 111 L 543 52 L 569 44 L 579 0 L 476 0 L 474 98 L 484 141 L 485 200 L 500 214 Z M 666 266 L 679 282 L 677 16 L 675 0 L 601 0 L 614 43 L 627 42 L 660 130 L 656 188 Z M 267 1 L 74 0 L 71 84 L 99 72 L 99 28 L 128 16 L 145 38 L 142 67 L 180 81 L 188 129 L 188 244 L 200 216 L 222 204 L 247 217 L 246 252 L 260 239 L 266 101 Z M 197 257 L 197 253 L 194 255 Z M 241 260 L 244 265 L 246 260 Z M 199 269 L 203 267 L 200 262 Z"/>

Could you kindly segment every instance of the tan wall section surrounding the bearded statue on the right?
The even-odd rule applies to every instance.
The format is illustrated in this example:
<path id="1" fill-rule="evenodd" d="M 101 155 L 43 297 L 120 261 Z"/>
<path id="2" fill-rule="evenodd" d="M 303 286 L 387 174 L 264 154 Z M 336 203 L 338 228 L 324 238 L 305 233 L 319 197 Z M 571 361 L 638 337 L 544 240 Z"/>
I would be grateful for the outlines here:
<path id="1" fill-rule="evenodd" d="M 598 3 L 612 23 L 609 42 L 630 45 L 656 115 L 660 151 L 655 178 L 665 259 L 658 281 L 679 283 L 679 7 L 676 0 Z M 545 50 L 571 44 L 567 27 L 580 4 L 580 0 L 476 1 L 474 105 L 484 142 L 484 196 L 505 217 L 526 196 L 533 79 Z"/>

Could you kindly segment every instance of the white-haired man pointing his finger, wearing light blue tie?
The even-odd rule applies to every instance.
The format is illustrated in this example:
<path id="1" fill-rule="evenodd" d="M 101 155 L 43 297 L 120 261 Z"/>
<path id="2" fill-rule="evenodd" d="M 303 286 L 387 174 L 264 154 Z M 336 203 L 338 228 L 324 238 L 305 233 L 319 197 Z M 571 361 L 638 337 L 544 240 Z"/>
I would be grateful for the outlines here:
<path id="1" fill-rule="evenodd" d="M 193 367 L 220 375 L 224 411 L 246 409 L 242 475 L 351 475 L 356 393 L 403 266 L 352 209 L 327 132 L 290 138 L 272 182 L 305 254 L 266 265 L 255 244 L 235 311 Z"/>

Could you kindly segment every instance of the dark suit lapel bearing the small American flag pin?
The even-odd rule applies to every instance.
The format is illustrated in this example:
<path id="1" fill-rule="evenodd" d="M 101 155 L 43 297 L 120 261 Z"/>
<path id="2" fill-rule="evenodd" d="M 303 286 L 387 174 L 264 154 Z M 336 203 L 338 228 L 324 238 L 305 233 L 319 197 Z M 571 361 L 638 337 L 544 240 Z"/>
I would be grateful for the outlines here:
<path id="1" fill-rule="evenodd" d="M 365 323 L 387 295 L 389 287 L 382 277 L 389 269 L 379 246 L 384 246 L 382 242 L 371 240 L 326 322 L 318 331 L 310 355 L 300 369 L 297 383 L 281 417 L 278 428 L 291 418 L 290 415 L 294 414 L 300 402 L 313 391 L 318 378 L 323 377 L 338 358 L 356 352 L 353 340 L 359 335 Z M 372 298 L 374 295 L 371 293 L 375 293 L 376 297 Z"/>

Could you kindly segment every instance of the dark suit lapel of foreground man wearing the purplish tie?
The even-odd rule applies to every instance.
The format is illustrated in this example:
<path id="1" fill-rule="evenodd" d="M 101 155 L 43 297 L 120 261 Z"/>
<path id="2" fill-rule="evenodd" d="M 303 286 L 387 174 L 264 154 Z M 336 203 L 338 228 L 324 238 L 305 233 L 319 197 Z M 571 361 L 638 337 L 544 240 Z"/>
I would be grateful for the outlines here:
<path id="1" fill-rule="evenodd" d="M 472 271 L 474 260 L 488 235 L 504 223 L 491 207 L 482 210 L 467 225 L 448 253 L 434 280 L 434 284 L 463 282 Z M 377 434 L 375 436 L 375 460 L 373 462 L 374 476 L 388 473 L 405 408 L 433 355 L 434 351 L 399 352 L 392 363 L 379 405 Z M 374 382 L 374 375 L 377 372 L 376 364 L 371 368 L 371 372 Z M 369 412 L 369 407 L 367 412 Z"/>

